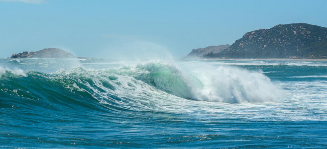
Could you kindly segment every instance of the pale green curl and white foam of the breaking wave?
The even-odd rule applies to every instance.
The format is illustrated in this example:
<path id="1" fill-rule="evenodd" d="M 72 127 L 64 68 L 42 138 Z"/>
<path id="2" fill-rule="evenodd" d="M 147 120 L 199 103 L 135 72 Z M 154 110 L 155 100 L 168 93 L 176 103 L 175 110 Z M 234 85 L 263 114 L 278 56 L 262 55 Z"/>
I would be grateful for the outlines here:
<path id="1" fill-rule="evenodd" d="M 177 69 L 160 62 L 138 66 L 147 73 L 140 80 L 172 95 L 211 102 L 277 101 L 283 91 L 262 72 L 205 64 Z M 184 67 L 183 67 L 184 68 Z"/>

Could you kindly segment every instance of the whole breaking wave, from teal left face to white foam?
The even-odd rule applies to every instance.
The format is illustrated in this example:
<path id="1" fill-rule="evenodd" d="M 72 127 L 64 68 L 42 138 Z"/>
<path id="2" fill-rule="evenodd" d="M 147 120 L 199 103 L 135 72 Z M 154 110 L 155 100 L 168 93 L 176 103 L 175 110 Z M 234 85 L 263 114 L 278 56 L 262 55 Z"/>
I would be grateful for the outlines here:
<path id="1" fill-rule="evenodd" d="M 176 100 L 181 98 L 225 103 L 270 102 L 283 94 L 262 72 L 226 66 L 178 68 L 159 61 L 103 70 L 79 67 L 52 74 L 0 69 L 0 74 L 7 78 L 2 80 L 3 84 L 17 82 L 10 79 L 19 80 L 19 85 L 2 86 L 9 88 L 10 95 L 21 92 L 26 98 L 39 100 L 45 98 L 40 96 L 44 92 L 57 92 L 55 96 L 59 99 L 83 97 L 125 109 L 157 109 L 164 107 L 163 102 L 178 105 L 180 102 Z"/>

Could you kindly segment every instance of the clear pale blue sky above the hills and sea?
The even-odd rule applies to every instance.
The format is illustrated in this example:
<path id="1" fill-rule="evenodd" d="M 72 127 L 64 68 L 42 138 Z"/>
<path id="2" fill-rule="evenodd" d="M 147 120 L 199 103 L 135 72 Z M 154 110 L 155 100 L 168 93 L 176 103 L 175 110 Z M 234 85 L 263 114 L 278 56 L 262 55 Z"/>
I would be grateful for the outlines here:
<path id="1" fill-rule="evenodd" d="M 0 57 L 61 48 L 80 57 L 174 57 L 277 24 L 327 27 L 327 0 L 0 0 Z"/>

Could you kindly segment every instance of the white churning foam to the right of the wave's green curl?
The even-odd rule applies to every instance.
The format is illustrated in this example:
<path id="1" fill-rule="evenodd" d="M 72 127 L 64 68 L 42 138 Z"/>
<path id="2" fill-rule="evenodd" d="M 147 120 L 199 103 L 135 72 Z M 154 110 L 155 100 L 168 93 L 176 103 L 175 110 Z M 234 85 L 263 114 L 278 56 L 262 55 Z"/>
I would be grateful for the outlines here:
<path id="1" fill-rule="evenodd" d="M 190 81 L 194 98 L 212 102 L 269 102 L 283 97 L 283 91 L 262 72 L 237 67 L 202 66 L 192 70 L 199 83 Z"/>

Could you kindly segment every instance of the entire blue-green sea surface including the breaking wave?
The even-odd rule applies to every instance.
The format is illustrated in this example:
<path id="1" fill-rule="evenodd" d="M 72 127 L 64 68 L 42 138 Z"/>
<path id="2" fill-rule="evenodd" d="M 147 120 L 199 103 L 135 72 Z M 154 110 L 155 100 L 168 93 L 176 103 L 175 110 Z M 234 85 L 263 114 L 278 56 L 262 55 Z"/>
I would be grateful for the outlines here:
<path id="1" fill-rule="evenodd" d="M 327 62 L 0 59 L 0 148 L 327 148 Z"/>

